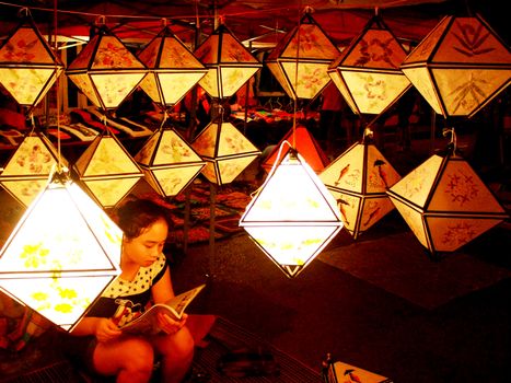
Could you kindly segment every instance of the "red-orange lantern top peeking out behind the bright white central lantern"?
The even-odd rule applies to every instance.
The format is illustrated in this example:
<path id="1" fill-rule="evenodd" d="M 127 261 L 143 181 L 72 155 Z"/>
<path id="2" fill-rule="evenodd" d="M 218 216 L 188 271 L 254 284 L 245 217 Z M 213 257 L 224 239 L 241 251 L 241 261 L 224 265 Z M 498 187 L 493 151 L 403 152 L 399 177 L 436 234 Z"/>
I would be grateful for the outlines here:
<path id="1" fill-rule="evenodd" d="M 286 134 L 286 136 L 280 140 L 280 142 L 275 147 L 274 151 L 271 151 L 271 153 L 262 164 L 263 169 L 265 169 L 268 173 L 277 161 L 283 141 L 293 142 L 294 148 L 305 159 L 306 163 L 315 173 L 320 173 L 325 169 L 326 165 L 328 165 L 328 158 L 321 148 L 320 143 L 317 143 L 316 139 L 311 135 L 307 128 L 305 128 L 303 125 L 299 125 L 295 128 L 291 128 Z M 283 150 L 284 153 L 281 153 L 280 158 L 283 158 L 290 149 L 286 147 Z"/>

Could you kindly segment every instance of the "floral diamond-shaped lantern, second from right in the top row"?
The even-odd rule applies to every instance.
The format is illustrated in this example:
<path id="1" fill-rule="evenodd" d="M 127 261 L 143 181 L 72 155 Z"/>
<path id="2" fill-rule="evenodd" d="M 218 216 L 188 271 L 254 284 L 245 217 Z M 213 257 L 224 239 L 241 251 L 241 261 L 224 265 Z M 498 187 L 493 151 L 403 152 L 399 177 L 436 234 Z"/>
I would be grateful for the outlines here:
<path id="1" fill-rule="evenodd" d="M 375 14 L 332 63 L 328 74 L 357 114 L 381 114 L 410 86 L 399 69 L 406 51 Z"/>

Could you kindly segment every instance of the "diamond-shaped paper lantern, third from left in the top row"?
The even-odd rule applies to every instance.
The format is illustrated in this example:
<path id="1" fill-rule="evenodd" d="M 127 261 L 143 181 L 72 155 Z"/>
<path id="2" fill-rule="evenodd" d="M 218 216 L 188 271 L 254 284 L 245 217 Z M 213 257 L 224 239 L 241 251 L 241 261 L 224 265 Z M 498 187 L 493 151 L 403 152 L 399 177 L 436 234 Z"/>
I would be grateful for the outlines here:
<path id="1" fill-rule="evenodd" d="M 149 69 L 140 88 L 162 109 L 177 104 L 207 73 L 206 67 L 166 25 L 138 55 Z"/>

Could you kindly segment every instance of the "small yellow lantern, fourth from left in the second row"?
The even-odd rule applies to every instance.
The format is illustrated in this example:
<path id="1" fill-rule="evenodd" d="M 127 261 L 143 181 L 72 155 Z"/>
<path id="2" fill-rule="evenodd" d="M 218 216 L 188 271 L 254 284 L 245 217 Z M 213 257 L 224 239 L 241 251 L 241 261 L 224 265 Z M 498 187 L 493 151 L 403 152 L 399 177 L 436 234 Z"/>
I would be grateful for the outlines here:
<path id="1" fill-rule="evenodd" d="M 206 161 L 204 176 L 218 185 L 233 182 L 260 154 L 234 125 L 221 118 L 206 126 L 191 147 Z"/>

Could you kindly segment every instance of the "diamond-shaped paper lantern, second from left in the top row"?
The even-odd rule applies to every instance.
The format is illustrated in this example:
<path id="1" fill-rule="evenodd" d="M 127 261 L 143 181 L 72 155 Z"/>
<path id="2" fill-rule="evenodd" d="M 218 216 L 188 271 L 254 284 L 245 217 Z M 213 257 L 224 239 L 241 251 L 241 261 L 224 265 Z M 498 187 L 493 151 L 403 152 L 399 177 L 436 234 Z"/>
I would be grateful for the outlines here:
<path id="1" fill-rule="evenodd" d="M 104 24 L 66 71 L 103 111 L 118 107 L 147 73 L 146 66 Z"/>

